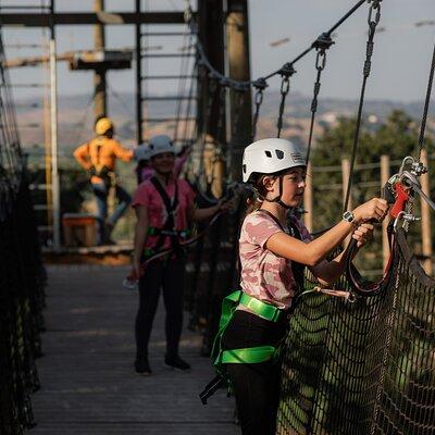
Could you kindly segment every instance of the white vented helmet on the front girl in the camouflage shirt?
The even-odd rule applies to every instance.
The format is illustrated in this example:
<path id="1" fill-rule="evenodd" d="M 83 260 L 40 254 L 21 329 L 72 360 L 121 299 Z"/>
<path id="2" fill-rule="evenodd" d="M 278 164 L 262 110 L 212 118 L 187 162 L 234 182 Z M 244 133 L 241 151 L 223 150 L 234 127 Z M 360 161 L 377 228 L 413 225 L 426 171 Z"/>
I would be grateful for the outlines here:
<path id="1" fill-rule="evenodd" d="M 256 173 L 274 174 L 295 166 L 306 166 L 306 153 L 301 147 L 286 139 L 262 139 L 249 145 L 244 151 L 244 183 Z"/>

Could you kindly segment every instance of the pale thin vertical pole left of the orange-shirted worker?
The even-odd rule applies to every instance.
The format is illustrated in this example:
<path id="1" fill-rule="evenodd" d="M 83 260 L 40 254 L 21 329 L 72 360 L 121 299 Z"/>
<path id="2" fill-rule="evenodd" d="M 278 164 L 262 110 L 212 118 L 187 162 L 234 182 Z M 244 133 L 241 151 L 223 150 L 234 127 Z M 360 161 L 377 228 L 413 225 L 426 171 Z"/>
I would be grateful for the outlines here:
<path id="1" fill-rule="evenodd" d="M 51 0 L 51 13 L 54 13 L 54 0 Z M 50 122 L 51 122 L 51 190 L 53 198 L 53 250 L 61 247 L 61 200 L 58 170 L 58 77 L 55 61 L 55 34 L 53 21 L 50 25 Z M 49 188 L 49 186 L 47 186 Z"/>

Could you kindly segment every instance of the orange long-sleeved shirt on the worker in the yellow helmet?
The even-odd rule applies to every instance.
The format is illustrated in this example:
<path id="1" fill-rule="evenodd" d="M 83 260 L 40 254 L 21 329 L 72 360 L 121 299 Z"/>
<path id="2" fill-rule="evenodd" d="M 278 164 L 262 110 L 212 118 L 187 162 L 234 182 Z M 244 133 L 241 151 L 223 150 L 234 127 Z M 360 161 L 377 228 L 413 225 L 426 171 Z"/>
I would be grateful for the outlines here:
<path id="1" fill-rule="evenodd" d="M 79 146 L 74 151 L 74 157 L 82 167 L 89 170 L 94 166 L 98 173 L 103 166 L 114 171 L 116 159 L 129 162 L 133 159 L 133 151 L 124 148 L 117 140 L 99 136 Z M 102 183 L 102 179 L 94 175 L 90 182 L 98 184 Z"/>

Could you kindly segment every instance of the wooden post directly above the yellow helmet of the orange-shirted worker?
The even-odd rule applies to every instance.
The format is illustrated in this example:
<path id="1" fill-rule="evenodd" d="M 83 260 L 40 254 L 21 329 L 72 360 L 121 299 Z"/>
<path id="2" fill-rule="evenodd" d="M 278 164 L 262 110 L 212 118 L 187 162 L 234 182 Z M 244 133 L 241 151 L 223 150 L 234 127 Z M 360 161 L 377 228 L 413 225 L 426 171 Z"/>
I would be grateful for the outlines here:
<path id="1" fill-rule="evenodd" d="M 94 0 L 94 11 L 104 11 L 104 0 Z M 105 33 L 103 24 L 96 24 L 94 26 L 94 47 L 96 50 L 104 50 L 105 47 Z M 96 119 L 105 116 L 107 101 L 105 101 L 105 69 L 96 69 L 94 75 L 94 113 Z"/>

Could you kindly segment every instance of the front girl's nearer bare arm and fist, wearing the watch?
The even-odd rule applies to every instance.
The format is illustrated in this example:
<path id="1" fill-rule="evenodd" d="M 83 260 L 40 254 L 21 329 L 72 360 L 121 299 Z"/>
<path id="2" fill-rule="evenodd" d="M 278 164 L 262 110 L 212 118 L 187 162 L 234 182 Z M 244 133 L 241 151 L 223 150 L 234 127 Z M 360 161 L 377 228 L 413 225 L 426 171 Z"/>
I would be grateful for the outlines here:
<path id="1" fill-rule="evenodd" d="M 268 239 L 265 247 L 276 256 L 315 266 L 339 246 L 346 236 L 356 229 L 356 226 L 370 220 L 381 222 L 385 217 L 387 209 L 385 200 L 373 198 L 353 210 L 355 221 L 352 223 L 341 221 L 309 244 L 285 233 L 276 233 Z"/>

